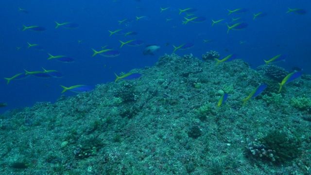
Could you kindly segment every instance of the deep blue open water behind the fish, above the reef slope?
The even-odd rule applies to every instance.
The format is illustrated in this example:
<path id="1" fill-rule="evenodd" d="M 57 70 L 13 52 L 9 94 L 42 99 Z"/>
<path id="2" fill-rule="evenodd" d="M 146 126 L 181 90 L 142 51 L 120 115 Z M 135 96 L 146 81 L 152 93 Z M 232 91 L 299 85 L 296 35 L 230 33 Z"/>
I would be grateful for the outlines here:
<path id="1" fill-rule="evenodd" d="M 161 8 L 170 7 L 160 13 Z M 302 8 L 306 14 L 286 13 L 289 8 Z M 19 10 L 23 9 L 23 10 Z M 178 9 L 193 8 L 196 12 L 179 15 Z M 245 8 L 244 13 L 227 15 L 227 9 Z M 28 71 L 57 70 L 62 78 L 38 78 L 30 76 L 23 80 L 0 81 L 0 113 L 8 109 L 32 106 L 36 102 L 54 103 L 60 95 L 60 85 L 70 87 L 113 82 L 114 72 L 128 72 L 153 66 L 158 57 L 173 53 L 173 45 L 192 43 L 188 50 L 177 50 L 178 55 L 192 53 L 196 57 L 213 50 L 225 57 L 237 54 L 252 68 L 264 64 L 278 54 L 286 54 L 286 61 L 277 63 L 289 71 L 293 67 L 303 68 L 311 73 L 311 1 L 310 0 L 2 0 L 0 1 L 1 42 L 0 77 L 10 78 L 17 73 Z M 253 14 L 267 13 L 265 17 L 253 20 Z M 137 17 L 146 16 L 136 20 Z M 205 17 L 200 23 L 183 25 L 184 17 Z M 213 20 L 244 18 L 247 27 L 230 30 L 226 25 L 215 24 Z M 131 22 L 118 21 L 127 19 Z M 167 21 L 167 19 L 172 19 Z M 78 28 L 56 27 L 59 23 L 72 22 Z M 40 26 L 45 31 L 37 32 L 25 26 Z M 231 24 L 230 24 L 231 25 Z M 138 35 L 111 35 L 118 29 L 137 32 Z M 121 41 L 137 39 L 144 42 L 137 47 L 123 46 Z M 204 40 L 210 39 L 209 42 Z M 81 42 L 79 43 L 78 40 Z M 240 41 L 243 41 L 241 44 Z M 27 48 L 38 44 L 42 50 Z M 147 45 L 156 44 L 160 50 L 155 55 L 143 55 Z M 102 50 L 108 45 L 121 54 L 117 57 L 92 57 L 94 48 Z M 17 49 L 20 47 L 20 49 Z M 66 55 L 73 63 L 62 63 L 50 59 L 52 55 Z M 66 91 L 66 96 L 75 95 Z"/>

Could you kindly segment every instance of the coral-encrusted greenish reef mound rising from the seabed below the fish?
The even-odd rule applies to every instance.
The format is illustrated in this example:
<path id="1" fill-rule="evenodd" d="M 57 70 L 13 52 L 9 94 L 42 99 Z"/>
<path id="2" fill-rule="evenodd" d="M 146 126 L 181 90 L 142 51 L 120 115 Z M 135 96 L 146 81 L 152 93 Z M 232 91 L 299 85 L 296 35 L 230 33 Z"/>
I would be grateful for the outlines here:
<path id="1" fill-rule="evenodd" d="M 287 72 L 240 59 L 216 66 L 216 55 L 164 55 L 135 70 L 139 79 L 0 115 L 0 174 L 311 174 L 311 81 L 277 93 Z"/>

